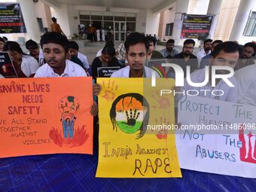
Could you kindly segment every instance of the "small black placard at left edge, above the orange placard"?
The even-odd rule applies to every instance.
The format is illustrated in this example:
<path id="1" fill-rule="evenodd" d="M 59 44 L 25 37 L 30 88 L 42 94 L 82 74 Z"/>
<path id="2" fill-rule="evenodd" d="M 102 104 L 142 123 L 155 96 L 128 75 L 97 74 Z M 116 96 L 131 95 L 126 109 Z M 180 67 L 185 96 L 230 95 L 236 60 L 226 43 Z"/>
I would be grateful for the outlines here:
<path id="1" fill-rule="evenodd" d="M 3 75 L 5 78 L 18 77 L 8 52 L 0 51 L 0 74 Z"/>

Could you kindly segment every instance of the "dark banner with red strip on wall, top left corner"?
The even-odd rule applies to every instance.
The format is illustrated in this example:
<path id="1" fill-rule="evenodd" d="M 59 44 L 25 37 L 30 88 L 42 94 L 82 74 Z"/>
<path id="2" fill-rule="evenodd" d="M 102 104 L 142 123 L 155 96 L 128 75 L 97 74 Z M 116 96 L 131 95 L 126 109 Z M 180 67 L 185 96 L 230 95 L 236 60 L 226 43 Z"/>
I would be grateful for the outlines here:
<path id="1" fill-rule="evenodd" d="M 26 26 L 20 4 L 0 4 L 0 33 L 24 33 Z"/>

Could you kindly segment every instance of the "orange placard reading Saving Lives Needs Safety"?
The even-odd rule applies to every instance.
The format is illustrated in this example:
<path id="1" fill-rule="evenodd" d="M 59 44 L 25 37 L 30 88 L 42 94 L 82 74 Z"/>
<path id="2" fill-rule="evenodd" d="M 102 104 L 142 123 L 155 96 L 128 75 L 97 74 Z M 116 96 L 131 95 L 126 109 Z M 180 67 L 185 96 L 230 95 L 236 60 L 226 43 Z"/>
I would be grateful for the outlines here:
<path id="1" fill-rule="evenodd" d="M 0 157 L 93 154 L 92 78 L 0 80 Z"/>

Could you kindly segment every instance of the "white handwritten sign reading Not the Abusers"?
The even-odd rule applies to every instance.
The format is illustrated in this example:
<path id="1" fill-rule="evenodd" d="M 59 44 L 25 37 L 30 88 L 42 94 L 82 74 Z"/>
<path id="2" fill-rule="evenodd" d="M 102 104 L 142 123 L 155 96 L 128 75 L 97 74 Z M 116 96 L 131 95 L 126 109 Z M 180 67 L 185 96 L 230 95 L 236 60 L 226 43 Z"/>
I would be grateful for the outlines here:
<path id="1" fill-rule="evenodd" d="M 256 108 L 184 96 L 176 145 L 181 168 L 256 178 Z"/>

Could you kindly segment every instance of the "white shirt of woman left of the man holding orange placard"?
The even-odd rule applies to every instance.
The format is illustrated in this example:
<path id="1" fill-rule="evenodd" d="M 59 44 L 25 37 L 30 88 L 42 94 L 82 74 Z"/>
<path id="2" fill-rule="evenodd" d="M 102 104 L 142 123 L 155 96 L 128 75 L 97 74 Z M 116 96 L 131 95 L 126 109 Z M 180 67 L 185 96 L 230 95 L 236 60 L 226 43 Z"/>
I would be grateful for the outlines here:
<path id="1" fill-rule="evenodd" d="M 23 60 L 21 62 L 20 69 L 21 71 L 23 71 L 26 77 L 29 77 L 30 75 L 34 74 L 38 70 L 39 64 L 34 57 L 23 55 L 22 59 Z"/>

